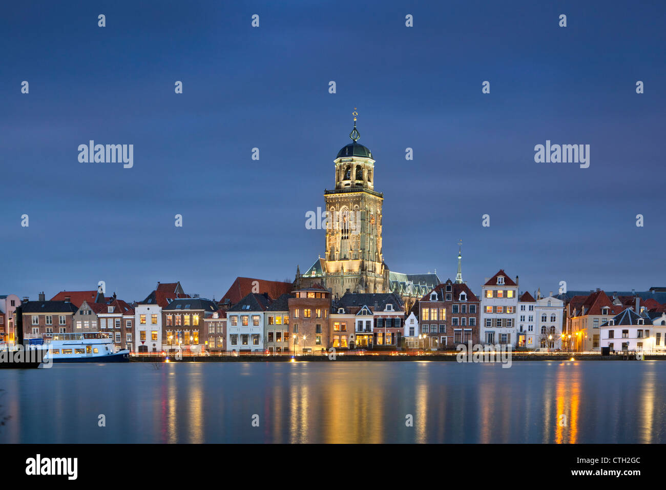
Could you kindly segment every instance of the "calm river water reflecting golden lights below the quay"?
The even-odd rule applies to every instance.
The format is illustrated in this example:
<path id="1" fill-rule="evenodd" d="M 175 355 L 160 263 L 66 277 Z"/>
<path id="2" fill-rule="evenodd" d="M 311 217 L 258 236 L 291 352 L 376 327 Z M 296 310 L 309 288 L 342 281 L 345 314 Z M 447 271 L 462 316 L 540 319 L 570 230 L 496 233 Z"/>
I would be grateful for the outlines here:
<path id="1" fill-rule="evenodd" d="M 664 379 L 663 361 L 3 369 L 0 415 L 11 419 L 0 441 L 665 443 Z M 557 423 L 562 413 L 567 427 Z M 414 427 L 405 425 L 408 414 Z"/>

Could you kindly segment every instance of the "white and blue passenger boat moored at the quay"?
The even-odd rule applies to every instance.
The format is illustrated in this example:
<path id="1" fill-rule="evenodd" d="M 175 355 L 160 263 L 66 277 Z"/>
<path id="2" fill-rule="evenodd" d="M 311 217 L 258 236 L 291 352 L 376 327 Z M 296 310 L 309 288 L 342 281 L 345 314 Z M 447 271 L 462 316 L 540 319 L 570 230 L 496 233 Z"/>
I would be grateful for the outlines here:
<path id="1" fill-rule="evenodd" d="M 54 363 L 127 363 L 129 350 L 116 352 L 113 339 L 105 332 L 49 333 L 27 339 L 29 349 L 48 349 Z"/>

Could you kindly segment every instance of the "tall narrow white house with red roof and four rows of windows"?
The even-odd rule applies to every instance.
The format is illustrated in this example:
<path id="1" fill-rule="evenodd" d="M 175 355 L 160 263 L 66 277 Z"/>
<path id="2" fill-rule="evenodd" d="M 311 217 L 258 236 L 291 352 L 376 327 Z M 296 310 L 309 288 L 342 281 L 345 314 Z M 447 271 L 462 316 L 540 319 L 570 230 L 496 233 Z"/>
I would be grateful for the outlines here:
<path id="1" fill-rule="evenodd" d="M 482 343 L 517 343 L 518 277 L 515 282 L 500 269 L 481 288 Z M 422 320 L 420 320 L 422 322 Z"/>

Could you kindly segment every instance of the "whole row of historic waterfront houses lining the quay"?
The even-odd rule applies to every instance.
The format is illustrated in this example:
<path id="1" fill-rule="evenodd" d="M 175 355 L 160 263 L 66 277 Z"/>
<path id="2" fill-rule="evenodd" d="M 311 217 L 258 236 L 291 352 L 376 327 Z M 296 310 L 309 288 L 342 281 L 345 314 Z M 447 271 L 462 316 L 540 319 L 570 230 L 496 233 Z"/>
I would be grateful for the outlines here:
<path id="1" fill-rule="evenodd" d="M 314 284 L 238 277 L 220 301 L 157 283 L 143 301 L 103 289 L 61 291 L 50 300 L 0 295 L 0 342 L 59 333 L 109 333 L 117 350 L 311 352 L 336 349 L 455 349 L 460 343 L 515 349 L 666 351 L 666 289 L 630 294 L 520 291 L 503 269 L 476 295 L 462 278 L 414 304 L 399 293 L 332 297 Z"/>

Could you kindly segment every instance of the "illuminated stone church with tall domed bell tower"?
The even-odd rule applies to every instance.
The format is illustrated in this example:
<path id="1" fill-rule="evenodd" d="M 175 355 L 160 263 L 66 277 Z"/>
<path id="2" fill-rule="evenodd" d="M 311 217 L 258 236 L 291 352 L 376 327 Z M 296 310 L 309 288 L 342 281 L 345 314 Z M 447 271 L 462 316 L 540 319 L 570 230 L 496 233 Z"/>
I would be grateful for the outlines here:
<path id="1" fill-rule="evenodd" d="M 335 188 L 324 191 L 326 252 L 304 273 L 296 268 L 297 287 L 314 284 L 330 289 L 332 297 L 352 293 L 398 293 L 405 307 L 440 283 L 436 273 L 401 274 L 389 271 L 382 249 L 384 195 L 374 187 L 372 151 L 358 143 L 354 129 L 351 143 L 334 159 Z"/>

